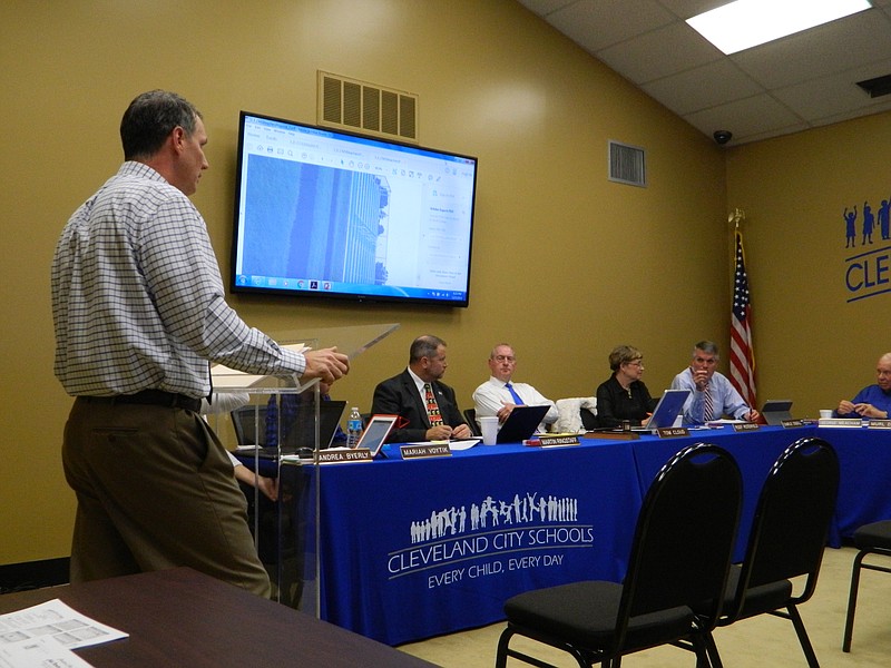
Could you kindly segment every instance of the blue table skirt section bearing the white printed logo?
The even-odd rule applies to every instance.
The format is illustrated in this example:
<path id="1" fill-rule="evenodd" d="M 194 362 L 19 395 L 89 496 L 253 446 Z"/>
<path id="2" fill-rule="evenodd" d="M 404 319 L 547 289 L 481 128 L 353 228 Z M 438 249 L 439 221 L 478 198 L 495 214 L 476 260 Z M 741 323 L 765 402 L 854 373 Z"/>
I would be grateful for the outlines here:
<path id="1" fill-rule="evenodd" d="M 322 618 L 398 645 L 502 619 L 521 591 L 619 579 L 640 500 L 629 442 L 323 466 Z"/>

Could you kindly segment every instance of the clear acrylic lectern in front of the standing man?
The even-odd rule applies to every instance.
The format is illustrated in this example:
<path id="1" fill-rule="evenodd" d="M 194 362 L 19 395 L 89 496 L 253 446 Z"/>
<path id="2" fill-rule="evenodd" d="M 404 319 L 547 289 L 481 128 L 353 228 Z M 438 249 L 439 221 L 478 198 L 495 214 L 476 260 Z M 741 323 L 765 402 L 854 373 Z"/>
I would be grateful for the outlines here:
<path id="1" fill-rule="evenodd" d="M 398 324 L 270 333 L 293 350 L 337 346 L 351 360 Z M 319 381 L 251 375 L 212 367 L 215 401 L 207 420 L 238 462 L 262 477 L 241 483 L 257 554 L 270 573 L 273 599 L 320 613 L 319 452 L 335 441 L 345 402 L 324 401 Z"/>

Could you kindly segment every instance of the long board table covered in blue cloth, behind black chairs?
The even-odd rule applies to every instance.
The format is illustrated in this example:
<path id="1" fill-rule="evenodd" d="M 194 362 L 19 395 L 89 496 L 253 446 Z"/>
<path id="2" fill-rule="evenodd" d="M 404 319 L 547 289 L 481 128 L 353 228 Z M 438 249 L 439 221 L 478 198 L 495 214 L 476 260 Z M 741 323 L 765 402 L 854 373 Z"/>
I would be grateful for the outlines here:
<path id="1" fill-rule="evenodd" d="M 725 448 L 742 470 L 741 558 L 771 465 L 807 436 L 828 440 L 841 462 L 831 546 L 891 518 L 888 430 L 727 425 L 562 448 L 480 444 L 412 460 L 388 445 L 373 462 L 304 468 L 319 484 L 321 617 L 399 645 L 503 619 L 505 600 L 521 591 L 619 580 L 650 481 L 695 442 Z"/>

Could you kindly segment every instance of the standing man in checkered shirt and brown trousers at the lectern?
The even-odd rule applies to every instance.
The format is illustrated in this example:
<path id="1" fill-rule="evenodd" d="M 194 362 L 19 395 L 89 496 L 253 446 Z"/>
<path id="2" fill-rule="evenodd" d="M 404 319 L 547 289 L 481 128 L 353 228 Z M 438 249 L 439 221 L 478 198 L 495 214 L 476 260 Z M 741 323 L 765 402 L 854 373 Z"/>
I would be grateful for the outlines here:
<path id="1" fill-rule="evenodd" d="M 226 304 L 188 199 L 208 167 L 192 104 L 143 94 L 120 137 L 124 165 L 71 216 L 52 261 L 55 371 L 76 397 L 62 444 L 78 501 L 71 581 L 189 566 L 268 596 L 244 495 L 199 415 L 208 361 L 326 382 L 349 362 L 281 348 Z"/>

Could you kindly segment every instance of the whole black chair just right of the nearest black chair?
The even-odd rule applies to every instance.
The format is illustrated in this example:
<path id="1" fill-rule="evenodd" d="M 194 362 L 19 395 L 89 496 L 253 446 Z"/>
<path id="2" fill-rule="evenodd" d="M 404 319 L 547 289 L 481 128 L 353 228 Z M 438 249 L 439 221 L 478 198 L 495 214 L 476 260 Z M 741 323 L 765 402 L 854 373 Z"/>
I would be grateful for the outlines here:
<path id="1" fill-rule="evenodd" d="M 762 487 L 745 558 L 731 568 L 717 626 L 763 613 L 789 619 L 807 665 L 820 666 L 797 606 L 816 589 L 838 492 L 839 459 L 832 445 L 822 439 L 800 439 L 786 448 Z M 794 595 L 790 580 L 800 576 L 805 581 L 801 593 Z M 718 668 L 721 658 L 711 633 L 707 642 L 712 666 Z M 764 662 L 774 661 L 764 657 Z"/>

